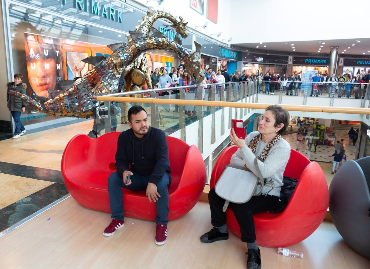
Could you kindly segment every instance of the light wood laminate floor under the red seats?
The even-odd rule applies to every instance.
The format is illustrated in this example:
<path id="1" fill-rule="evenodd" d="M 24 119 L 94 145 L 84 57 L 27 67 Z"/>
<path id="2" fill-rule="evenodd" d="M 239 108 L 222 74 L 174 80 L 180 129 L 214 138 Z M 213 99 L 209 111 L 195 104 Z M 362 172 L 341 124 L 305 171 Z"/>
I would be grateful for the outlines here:
<path id="1" fill-rule="evenodd" d="M 0 268 L 246 268 L 246 244 L 232 233 L 226 241 L 200 242 L 211 228 L 206 202 L 169 222 L 162 246 L 154 243 L 153 222 L 127 217 L 123 228 L 105 237 L 109 222 L 110 214 L 85 209 L 70 197 L 0 238 Z M 261 247 L 263 268 L 370 268 L 331 222 L 289 248 L 304 258 Z"/>

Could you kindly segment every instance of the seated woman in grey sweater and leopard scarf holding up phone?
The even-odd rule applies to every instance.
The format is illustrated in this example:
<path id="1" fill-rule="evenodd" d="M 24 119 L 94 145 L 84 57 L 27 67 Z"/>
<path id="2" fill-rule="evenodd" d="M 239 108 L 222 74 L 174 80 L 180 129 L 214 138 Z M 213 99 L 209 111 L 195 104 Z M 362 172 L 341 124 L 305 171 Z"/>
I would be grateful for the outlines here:
<path id="1" fill-rule="evenodd" d="M 281 134 L 286 130 L 289 119 L 289 113 L 285 109 L 273 105 L 269 106 L 262 115 L 258 132 L 250 133 L 245 140 L 238 138 L 234 129 L 230 132 L 230 139 L 239 147 L 231 157 L 230 164 L 245 166 L 256 175 L 254 159 L 259 156 L 258 167 L 265 178 L 260 196 L 252 196 L 246 203 L 232 204 L 240 226 L 241 239 L 248 247 L 247 268 L 261 268 L 253 214 L 271 210 L 279 201 L 283 173 L 290 156 L 290 145 L 281 137 Z M 214 227 L 201 236 L 201 242 L 226 240 L 229 234 L 226 227 L 226 214 L 222 211 L 225 200 L 217 196 L 215 189 L 209 191 L 208 198 L 211 207 L 211 223 Z"/>

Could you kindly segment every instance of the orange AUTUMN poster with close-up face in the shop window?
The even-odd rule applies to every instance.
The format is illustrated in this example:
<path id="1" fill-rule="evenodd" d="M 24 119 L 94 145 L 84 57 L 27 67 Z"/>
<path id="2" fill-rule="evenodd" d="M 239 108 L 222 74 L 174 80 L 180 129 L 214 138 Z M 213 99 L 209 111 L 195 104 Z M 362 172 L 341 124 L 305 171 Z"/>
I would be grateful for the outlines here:
<path id="1" fill-rule="evenodd" d="M 64 79 L 61 39 L 24 33 L 29 95 L 50 97 L 47 90 L 57 89 Z"/>

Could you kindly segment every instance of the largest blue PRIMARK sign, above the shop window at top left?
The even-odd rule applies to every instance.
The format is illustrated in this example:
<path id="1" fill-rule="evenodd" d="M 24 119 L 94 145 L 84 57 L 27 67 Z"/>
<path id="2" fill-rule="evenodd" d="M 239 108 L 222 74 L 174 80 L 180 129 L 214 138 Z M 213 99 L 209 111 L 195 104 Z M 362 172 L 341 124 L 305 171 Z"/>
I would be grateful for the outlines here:
<path id="1" fill-rule="evenodd" d="M 100 4 L 94 0 L 72 0 L 73 7 L 78 10 L 83 10 L 92 15 L 104 17 L 105 19 L 122 23 L 122 11 L 119 7 L 107 7 L 105 4 Z M 67 4 L 67 0 L 61 0 L 62 5 Z"/>

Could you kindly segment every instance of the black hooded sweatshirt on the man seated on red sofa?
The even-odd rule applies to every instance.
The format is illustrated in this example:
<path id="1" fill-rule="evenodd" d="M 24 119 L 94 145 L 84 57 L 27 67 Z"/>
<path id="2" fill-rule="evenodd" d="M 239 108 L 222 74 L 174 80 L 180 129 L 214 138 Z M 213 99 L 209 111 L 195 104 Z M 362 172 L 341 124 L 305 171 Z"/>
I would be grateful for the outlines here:
<path id="1" fill-rule="evenodd" d="M 115 167 L 119 175 L 125 170 L 150 176 L 149 182 L 157 184 L 164 173 L 171 173 L 166 135 L 161 129 L 149 127 L 143 138 L 128 129 L 118 136 Z M 131 168 L 131 169 L 130 169 Z"/>

